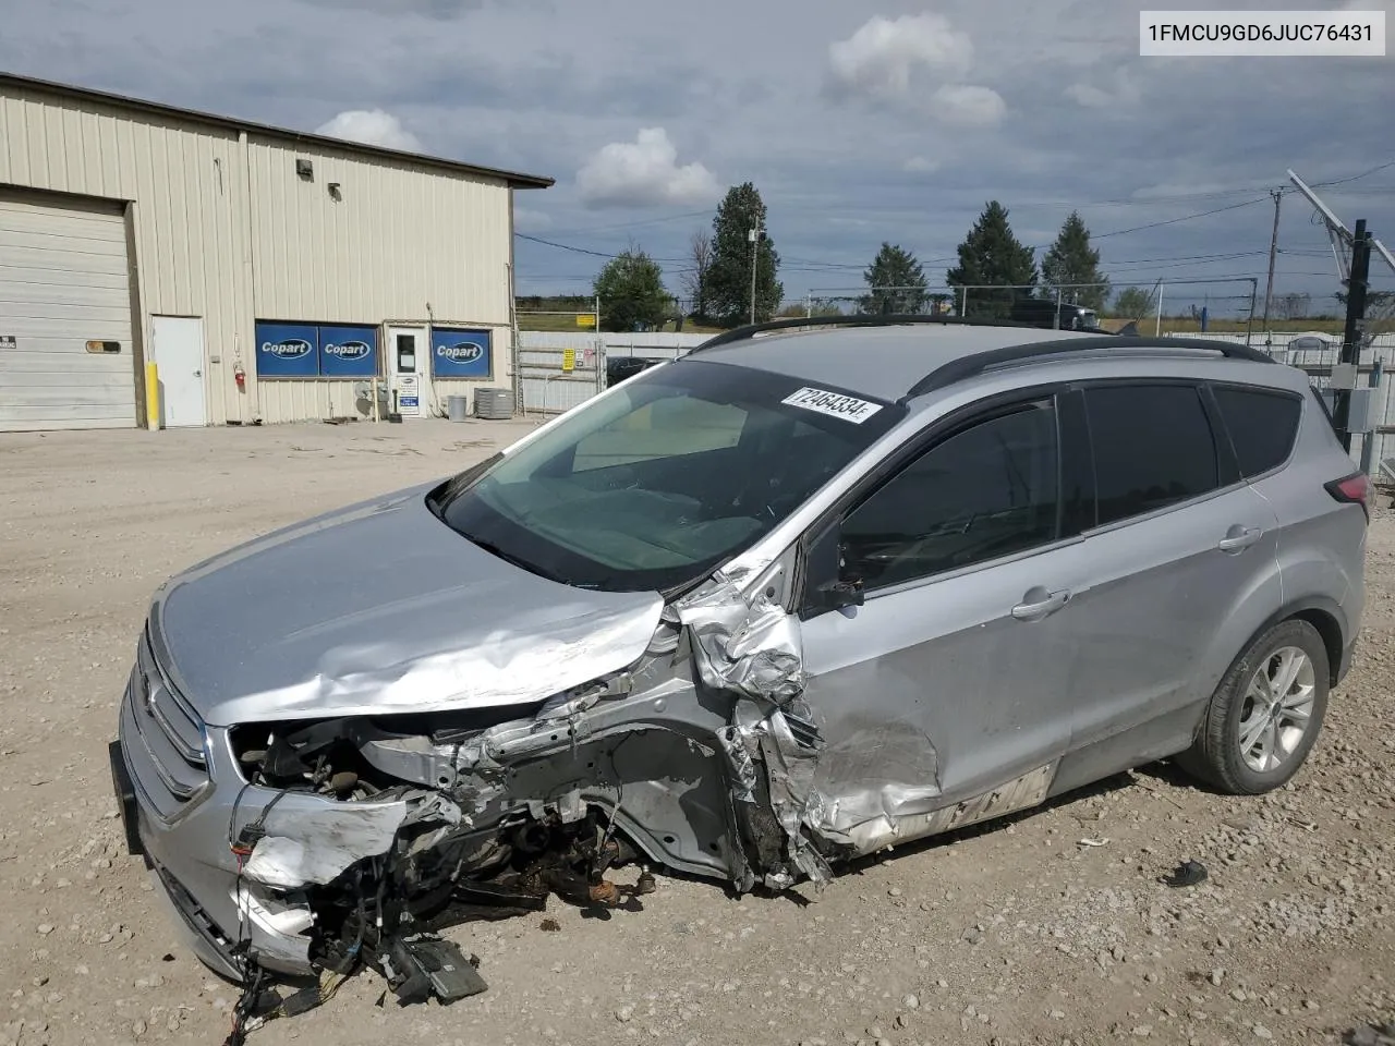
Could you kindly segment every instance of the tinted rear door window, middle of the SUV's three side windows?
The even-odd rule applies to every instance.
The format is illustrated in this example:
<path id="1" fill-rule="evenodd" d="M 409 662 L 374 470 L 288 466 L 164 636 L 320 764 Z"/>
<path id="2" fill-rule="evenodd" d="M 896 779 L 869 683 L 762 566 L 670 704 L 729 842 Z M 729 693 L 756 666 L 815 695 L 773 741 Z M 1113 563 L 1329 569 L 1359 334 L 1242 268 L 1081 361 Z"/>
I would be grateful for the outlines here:
<path id="1" fill-rule="evenodd" d="M 1221 485 L 1215 437 L 1194 385 L 1085 389 L 1098 526 L 1177 505 Z"/>

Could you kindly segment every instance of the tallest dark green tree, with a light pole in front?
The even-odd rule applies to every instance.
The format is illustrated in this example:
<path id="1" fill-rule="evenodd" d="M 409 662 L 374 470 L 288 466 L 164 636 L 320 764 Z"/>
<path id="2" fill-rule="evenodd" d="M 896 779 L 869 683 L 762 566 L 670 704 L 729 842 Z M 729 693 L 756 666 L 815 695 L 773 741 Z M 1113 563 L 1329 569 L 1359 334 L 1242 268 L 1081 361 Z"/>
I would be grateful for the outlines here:
<path id="1" fill-rule="evenodd" d="M 751 230 L 757 240 L 751 243 Z M 766 205 L 749 181 L 732 185 L 711 219 L 711 257 L 703 304 L 707 314 L 728 326 L 751 322 L 751 261 L 756 261 L 756 321 L 774 315 L 784 298 L 778 280 L 780 254 L 766 234 Z"/>

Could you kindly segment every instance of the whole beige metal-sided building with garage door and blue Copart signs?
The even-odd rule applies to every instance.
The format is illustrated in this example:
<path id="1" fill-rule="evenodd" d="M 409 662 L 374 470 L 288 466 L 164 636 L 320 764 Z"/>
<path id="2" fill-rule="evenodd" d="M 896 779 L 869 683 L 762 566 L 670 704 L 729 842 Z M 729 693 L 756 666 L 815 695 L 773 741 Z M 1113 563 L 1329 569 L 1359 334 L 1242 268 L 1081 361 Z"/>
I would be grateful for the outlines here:
<path id="1" fill-rule="evenodd" d="M 551 184 L 0 74 L 0 430 L 144 425 L 146 363 L 170 427 L 509 386 L 513 191 Z"/>

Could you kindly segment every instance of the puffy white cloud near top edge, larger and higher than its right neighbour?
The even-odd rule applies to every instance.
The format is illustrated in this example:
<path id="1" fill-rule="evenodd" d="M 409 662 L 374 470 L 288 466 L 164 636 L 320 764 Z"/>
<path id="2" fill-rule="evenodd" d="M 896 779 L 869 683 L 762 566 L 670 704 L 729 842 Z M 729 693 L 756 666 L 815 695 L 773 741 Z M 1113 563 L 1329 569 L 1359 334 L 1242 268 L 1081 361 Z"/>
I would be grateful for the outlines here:
<path id="1" fill-rule="evenodd" d="M 914 74 L 940 78 L 968 73 L 974 43 L 942 15 L 875 15 L 845 40 L 829 45 L 829 71 L 845 93 L 901 102 L 914 91 Z"/>

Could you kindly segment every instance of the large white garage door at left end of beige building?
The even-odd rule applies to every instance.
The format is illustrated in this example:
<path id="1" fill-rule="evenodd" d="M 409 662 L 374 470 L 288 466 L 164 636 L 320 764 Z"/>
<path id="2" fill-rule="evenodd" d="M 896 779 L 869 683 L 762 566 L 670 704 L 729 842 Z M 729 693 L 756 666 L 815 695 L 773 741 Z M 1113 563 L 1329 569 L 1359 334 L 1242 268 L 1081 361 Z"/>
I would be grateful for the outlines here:
<path id="1" fill-rule="evenodd" d="M 0 430 L 135 418 L 120 205 L 0 195 Z"/>

